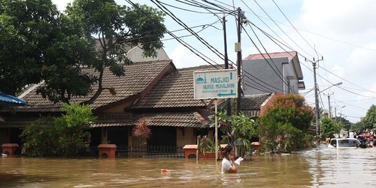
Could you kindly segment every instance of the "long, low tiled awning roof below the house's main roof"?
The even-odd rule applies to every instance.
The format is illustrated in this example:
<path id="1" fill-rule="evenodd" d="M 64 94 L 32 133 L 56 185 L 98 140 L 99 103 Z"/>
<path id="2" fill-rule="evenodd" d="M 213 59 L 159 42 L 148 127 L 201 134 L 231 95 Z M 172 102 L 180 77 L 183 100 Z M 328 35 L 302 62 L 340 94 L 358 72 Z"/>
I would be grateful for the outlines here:
<path id="1" fill-rule="evenodd" d="M 171 127 L 206 127 L 206 120 L 203 120 L 198 112 L 194 111 L 172 111 L 163 113 L 101 113 L 98 120 L 91 124 L 91 127 L 112 127 L 135 125 L 139 118 L 146 117 L 150 126 L 171 126 Z"/>

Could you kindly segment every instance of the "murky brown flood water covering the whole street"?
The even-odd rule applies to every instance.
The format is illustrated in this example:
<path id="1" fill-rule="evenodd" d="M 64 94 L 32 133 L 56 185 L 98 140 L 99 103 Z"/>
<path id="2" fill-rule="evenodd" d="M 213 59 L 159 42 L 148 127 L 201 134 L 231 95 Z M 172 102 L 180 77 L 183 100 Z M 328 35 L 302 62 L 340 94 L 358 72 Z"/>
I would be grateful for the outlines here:
<path id="1" fill-rule="evenodd" d="M 2 157 L 0 187 L 375 187 L 376 148 L 257 155 L 220 172 L 214 160 Z"/>

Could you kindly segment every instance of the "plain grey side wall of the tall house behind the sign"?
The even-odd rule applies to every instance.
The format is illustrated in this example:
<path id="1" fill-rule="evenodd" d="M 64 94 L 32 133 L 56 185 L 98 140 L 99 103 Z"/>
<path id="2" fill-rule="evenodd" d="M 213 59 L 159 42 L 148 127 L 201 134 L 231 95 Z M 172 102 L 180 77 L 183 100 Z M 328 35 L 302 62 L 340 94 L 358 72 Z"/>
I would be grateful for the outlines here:
<path id="1" fill-rule="evenodd" d="M 295 73 L 295 69 L 294 69 L 294 65 L 292 61 L 289 62 L 288 58 L 273 58 L 273 61 L 271 60 L 268 60 L 268 61 L 270 65 L 267 63 L 267 61 L 265 61 L 265 59 L 243 61 L 243 70 L 253 75 L 253 77 L 251 77 L 249 76 L 249 74 L 244 72 L 244 75 L 248 75 L 244 77 L 244 81 L 245 81 L 244 95 L 256 95 L 256 94 L 262 94 L 262 93 L 267 93 L 267 92 L 288 93 L 287 83 L 288 83 L 289 78 L 290 78 L 290 93 L 298 93 L 298 80 L 297 80 L 297 75 Z M 274 66 L 274 64 L 276 66 Z M 271 68 L 271 65 L 275 71 Z M 281 72 L 283 76 L 279 72 Z M 267 84 L 264 84 L 258 79 L 255 79 L 254 77 L 264 81 L 270 86 L 267 86 Z M 283 82 L 283 80 L 280 77 L 283 77 L 286 84 Z M 295 79 L 291 79 L 291 78 L 295 78 Z M 260 84 L 262 86 L 260 86 Z M 256 88 L 252 88 L 251 86 L 247 86 L 247 85 L 251 85 L 253 87 L 259 88 L 260 90 Z M 273 86 L 274 88 L 271 86 Z"/>

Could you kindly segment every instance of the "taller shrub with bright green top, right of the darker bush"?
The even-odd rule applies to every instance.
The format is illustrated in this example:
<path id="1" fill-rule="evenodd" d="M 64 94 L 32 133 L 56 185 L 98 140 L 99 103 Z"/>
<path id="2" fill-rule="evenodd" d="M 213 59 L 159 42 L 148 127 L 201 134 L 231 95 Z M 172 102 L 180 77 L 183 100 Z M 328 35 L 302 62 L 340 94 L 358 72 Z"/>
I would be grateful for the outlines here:
<path id="1" fill-rule="evenodd" d="M 87 105 L 77 103 L 63 104 L 62 111 L 66 114 L 55 119 L 56 130 L 59 133 L 59 148 L 65 157 L 77 155 L 81 148 L 87 148 L 90 144 L 89 123 L 95 120 L 95 116 Z"/>

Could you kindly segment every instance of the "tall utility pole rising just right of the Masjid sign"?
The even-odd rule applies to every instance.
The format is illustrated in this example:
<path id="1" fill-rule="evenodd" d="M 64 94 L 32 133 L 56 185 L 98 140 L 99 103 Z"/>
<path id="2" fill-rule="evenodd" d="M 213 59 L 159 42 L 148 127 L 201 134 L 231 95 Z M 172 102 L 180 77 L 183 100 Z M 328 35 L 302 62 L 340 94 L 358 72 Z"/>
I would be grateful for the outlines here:
<path id="1" fill-rule="evenodd" d="M 241 8 L 237 8 L 237 42 L 235 43 L 235 52 L 237 52 L 237 103 L 236 103 L 236 113 L 240 112 L 240 99 L 242 95 L 242 43 L 240 33 L 242 32 L 242 19 L 244 15 Z"/>

